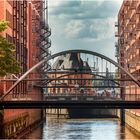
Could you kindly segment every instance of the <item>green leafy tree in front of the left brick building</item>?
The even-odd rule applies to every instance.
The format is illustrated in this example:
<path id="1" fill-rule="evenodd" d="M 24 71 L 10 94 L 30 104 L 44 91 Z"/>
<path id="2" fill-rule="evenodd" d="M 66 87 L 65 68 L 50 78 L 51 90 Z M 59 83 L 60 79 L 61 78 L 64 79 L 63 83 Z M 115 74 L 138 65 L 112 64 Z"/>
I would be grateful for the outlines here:
<path id="1" fill-rule="evenodd" d="M 1 35 L 8 24 L 7 21 L 0 21 L 0 76 L 20 71 L 19 63 L 14 57 L 15 45 L 8 42 L 6 38 Z"/>

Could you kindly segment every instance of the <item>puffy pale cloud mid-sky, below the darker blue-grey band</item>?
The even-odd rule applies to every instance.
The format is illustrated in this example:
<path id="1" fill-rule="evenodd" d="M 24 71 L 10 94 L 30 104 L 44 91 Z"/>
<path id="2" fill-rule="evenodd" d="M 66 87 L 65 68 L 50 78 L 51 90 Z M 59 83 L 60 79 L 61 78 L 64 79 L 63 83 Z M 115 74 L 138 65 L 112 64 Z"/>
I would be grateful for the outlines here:
<path id="1" fill-rule="evenodd" d="M 65 26 L 67 38 L 100 41 L 114 36 L 114 18 L 96 20 L 72 20 Z"/>

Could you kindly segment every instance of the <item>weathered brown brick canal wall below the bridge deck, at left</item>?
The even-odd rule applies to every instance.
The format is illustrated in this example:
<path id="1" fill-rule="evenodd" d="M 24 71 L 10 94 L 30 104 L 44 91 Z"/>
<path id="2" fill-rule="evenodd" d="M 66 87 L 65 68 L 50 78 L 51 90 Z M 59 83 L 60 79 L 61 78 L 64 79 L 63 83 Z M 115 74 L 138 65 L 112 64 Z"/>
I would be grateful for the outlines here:
<path id="1" fill-rule="evenodd" d="M 41 109 L 27 109 L 26 111 L 16 110 L 19 113 L 6 120 L 3 120 L 1 138 L 17 138 L 19 135 L 31 131 L 34 126 L 43 120 Z M 5 110 L 4 110 L 5 112 Z M 7 114 L 4 113 L 4 116 Z"/>

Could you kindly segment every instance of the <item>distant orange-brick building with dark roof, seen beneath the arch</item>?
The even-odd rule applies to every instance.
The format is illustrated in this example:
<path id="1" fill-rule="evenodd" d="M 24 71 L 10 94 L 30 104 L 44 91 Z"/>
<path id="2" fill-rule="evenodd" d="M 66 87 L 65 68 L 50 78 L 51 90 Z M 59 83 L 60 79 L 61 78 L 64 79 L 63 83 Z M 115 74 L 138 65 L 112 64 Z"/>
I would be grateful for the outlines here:
<path id="1" fill-rule="evenodd" d="M 92 75 L 88 74 L 88 72 L 91 72 L 91 69 L 88 65 L 88 62 L 85 62 L 81 59 L 79 53 L 70 53 L 66 55 L 62 55 L 58 57 L 56 62 L 53 64 L 52 69 L 54 70 L 54 73 L 50 74 L 50 77 L 52 78 L 59 78 L 60 80 L 54 80 L 51 83 L 48 84 L 50 87 L 48 92 L 52 94 L 63 94 L 63 93 L 80 93 L 80 89 L 84 89 L 84 91 L 89 94 L 92 91 L 92 88 L 86 88 L 86 86 L 92 87 Z M 64 73 L 59 73 L 59 71 L 64 70 Z M 58 73 L 55 73 L 55 70 L 58 71 Z M 81 74 L 67 74 L 67 72 L 81 72 Z M 66 72 L 66 73 L 65 73 Z M 85 74 L 82 74 L 82 72 Z M 86 74 L 87 72 L 87 74 Z M 70 78 L 75 80 L 61 80 L 61 77 L 64 78 Z M 84 80 L 85 78 L 90 80 Z M 77 79 L 83 79 L 83 80 L 77 80 Z M 57 88 L 55 88 L 56 86 Z M 59 88 L 60 86 L 60 88 Z M 63 87 L 64 86 L 64 87 Z M 53 88 L 51 88 L 53 87 Z"/>

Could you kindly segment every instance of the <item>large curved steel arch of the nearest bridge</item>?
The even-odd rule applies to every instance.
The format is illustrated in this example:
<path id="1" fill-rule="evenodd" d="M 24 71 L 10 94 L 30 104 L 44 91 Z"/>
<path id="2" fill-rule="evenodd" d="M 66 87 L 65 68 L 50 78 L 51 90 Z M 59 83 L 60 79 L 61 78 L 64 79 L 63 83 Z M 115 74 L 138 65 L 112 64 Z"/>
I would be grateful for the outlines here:
<path id="1" fill-rule="evenodd" d="M 130 79 L 132 79 L 132 81 L 134 81 L 139 87 L 140 87 L 140 82 L 131 74 L 129 73 L 127 70 L 125 70 L 121 65 L 119 65 L 117 62 L 115 62 L 114 60 L 108 58 L 105 55 L 102 55 L 100 53 L 97 52 L 93 52 L 93 51 L 89 51 L 89 50 L 66 50 L 66 51 L 62 51 L 56 54 L 53 54 L 51 56 L 48 56 L 47 58 L 41 60 L 40 62 L 38 62 L 36 65 L 34 65 L 32 68 L 30 68 L 27 72 L 25 72 L 6 92 L 5 94 L 0 98 L 0 100 L 3 100 L 5 96 L 7 96 L 18 84 L 19 82 L 21 82 L 29 73 L 31 73 L 34 69 L 38 68 L 39 66 L 41 66 L 43 63 L 54 59 L 58 56 L 61 55 L 65 55 L 65 54 L 69 54 L 69 53 L 85 53 L 85 54 L 90 54 L 90 55 L 94 55 L 94 56 L 98 56 L 101 59 L 104 59 L 108 62 L 110 62 L 111 64 L 115 65 L 116 67 L 118 67 L 122 72 L 124 72 L 128 77 L 130 77 Z"/>

